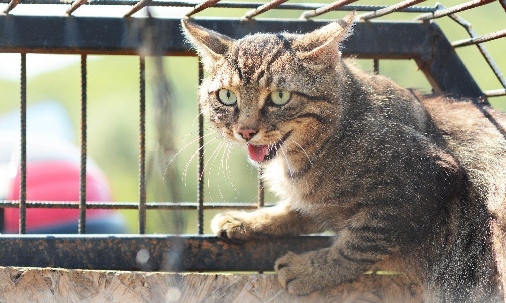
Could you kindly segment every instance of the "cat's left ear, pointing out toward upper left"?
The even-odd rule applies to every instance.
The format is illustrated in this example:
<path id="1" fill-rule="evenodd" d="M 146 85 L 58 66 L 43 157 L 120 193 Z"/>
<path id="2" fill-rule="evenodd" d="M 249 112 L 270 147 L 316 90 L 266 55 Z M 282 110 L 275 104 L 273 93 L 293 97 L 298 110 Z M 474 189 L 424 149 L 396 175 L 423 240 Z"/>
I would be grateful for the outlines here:
<path id="1" fill-rule="evenodd" d="M 207 63 L 216 62 L 223 58 L 228 49 L 235 42 L 234 39 L 202 27 L 198 24 L 181 20 L 184 34 L 197 53 Z"/>

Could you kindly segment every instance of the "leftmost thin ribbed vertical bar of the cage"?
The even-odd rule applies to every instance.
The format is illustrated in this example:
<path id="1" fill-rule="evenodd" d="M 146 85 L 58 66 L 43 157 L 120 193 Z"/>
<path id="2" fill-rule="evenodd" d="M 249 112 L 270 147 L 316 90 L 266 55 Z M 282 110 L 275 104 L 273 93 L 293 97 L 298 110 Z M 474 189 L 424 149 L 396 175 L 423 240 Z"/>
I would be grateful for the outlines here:
<path id="1" fill-rule="evenodd" d="M 21 54 L 21 163 L 19 172 L 19 233 L 26 233 L 26 54 Z"/>

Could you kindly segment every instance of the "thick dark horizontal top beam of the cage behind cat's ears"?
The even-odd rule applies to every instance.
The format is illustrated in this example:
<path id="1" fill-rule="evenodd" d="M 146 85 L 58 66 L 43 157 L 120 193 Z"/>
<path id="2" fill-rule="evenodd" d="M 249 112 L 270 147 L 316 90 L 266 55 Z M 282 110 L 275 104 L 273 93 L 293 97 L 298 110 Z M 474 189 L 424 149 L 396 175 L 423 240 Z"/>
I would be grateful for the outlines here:
<path id="1" fill-rule="evenodd" d="M 330 20 L 195 18 L 209 29 L 233 38 L 257 32 L 310 32 Z M 179 18 L 152 18 L 152 27 L 171 39 L 159 41 L 165 55 L 195 55 L 180 29 Z M 145 18 L 0 15 L 0 52 L 137 55 Z M 12 30 L 12 29 L 16 30 Z M 361 58 L 413 58 L 428 51 L 428 26 L 420 22 L 357 22 L 344 42 L 345 55 Z M 68 33 L 72 33 L 71 35 Z M 392 33 L 396 33 L 392 36 Z"/>

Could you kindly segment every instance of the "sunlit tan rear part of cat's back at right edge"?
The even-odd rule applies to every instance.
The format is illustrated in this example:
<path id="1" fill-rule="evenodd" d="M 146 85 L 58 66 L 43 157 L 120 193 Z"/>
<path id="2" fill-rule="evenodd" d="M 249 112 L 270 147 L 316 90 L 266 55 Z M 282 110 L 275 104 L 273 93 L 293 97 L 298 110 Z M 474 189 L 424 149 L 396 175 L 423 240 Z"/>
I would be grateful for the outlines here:
<path id="1" fill-rule="evenodd" d="M 444 96 L 420 101 L 489 210 L 506 224 L 506 114 Z"/>

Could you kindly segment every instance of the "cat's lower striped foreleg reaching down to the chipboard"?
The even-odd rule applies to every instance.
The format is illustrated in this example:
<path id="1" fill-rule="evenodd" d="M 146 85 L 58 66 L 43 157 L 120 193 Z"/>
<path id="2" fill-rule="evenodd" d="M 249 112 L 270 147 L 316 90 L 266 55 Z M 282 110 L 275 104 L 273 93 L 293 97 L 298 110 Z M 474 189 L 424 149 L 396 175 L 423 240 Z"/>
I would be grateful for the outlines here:
<path id="1" fill-rule="evenodd" d="M 306 295 L 356 279 L 398 251 L 391 230 L 363 225 L 345 228 L 334 244 L 305 254 L 288 254 L 275 264 L 278 280 L 291 294 Z"/>

